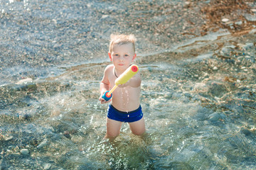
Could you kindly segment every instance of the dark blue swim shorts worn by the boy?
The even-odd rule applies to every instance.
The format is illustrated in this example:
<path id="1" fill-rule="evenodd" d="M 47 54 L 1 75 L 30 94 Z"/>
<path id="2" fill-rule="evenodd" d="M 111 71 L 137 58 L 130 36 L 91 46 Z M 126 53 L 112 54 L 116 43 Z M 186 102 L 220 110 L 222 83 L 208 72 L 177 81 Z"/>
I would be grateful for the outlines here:
<path id="1" fill-rule="evenodd" d="M 143 117 L 142 113 L 142 107 L 139 106 L 135 111 L 130 112 L 123 112 L 118 111 L 114 106 L 110 104 L 108 111 L 107 111 L 107 118 L 110 118 L 112 120 L 117 120 L 119 122 L 124 123 L 133 123 L 138 120 L 141 120 Z"/>

